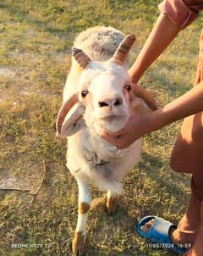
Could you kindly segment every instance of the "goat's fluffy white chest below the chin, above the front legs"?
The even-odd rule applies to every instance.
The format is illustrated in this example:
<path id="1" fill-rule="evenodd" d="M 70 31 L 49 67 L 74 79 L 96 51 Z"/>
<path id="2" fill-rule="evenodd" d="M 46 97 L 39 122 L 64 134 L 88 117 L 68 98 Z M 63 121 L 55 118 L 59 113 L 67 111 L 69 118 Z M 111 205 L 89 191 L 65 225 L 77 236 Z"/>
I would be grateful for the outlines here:
<path id="1" fill-rule="evenodd" d="M 122 192 L 123 177 L 140 160 L 141 139 L 118 150 L 88 128 L 79 133 L 68 142 L 67 167 L 71 174 L 102 189 Z"/>

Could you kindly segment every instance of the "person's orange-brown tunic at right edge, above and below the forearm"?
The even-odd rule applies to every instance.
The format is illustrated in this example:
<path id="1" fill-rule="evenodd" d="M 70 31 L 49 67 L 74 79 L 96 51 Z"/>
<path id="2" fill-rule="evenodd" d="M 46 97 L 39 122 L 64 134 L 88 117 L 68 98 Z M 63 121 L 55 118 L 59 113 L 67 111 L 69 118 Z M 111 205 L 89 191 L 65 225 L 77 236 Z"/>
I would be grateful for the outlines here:
<path id="1" fill-rule="evenodd" d="M 200 52 L 194 86 L 203 81 L 203 29 L 200 34 Z M 170 166 L 178 172 L 201 172 L 203 166 L 203 113 L 184 119 L 173 147 Z"/>

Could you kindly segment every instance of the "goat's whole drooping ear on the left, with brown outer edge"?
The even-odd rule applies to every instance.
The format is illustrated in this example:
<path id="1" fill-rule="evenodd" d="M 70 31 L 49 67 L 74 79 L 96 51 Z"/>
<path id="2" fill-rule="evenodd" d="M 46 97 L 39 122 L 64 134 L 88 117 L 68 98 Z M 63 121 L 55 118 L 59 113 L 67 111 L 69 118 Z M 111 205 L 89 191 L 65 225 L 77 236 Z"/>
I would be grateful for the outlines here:
<path id="1" fill-rule="evenodd" d="M 84 106 L 78 100 L 78 94 L 74 94 L 63 103 L 57 117 L 57 136 L 71 136 L 80 131 L 83 125 L 82 115 Z"/>

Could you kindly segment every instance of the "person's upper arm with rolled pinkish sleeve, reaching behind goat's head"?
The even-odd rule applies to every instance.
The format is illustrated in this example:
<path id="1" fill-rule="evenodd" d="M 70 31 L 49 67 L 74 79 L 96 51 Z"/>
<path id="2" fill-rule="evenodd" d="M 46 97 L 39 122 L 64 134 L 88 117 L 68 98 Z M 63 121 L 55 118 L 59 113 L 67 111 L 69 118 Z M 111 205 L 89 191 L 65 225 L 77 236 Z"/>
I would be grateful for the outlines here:
<path id="1" fill-rule="evenodd" d="M 161 14 L 138 58 L 129 70 L 134 83 L 173 41 L 178 32 L 189 25 L 203 8 L 202 0 L 165 0 L 160 5 Z"/>

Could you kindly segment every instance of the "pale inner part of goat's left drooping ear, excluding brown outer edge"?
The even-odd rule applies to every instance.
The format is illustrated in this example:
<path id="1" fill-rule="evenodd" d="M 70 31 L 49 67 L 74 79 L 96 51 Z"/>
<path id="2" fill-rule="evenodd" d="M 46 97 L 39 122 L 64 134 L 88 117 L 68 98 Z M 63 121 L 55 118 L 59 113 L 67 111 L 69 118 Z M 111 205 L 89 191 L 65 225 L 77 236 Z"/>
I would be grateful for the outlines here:
<path id="1" fill-rule="evenodd" d="M 75 103 L 63 121 L 60 136 L 72 136 L 77 131 L 80 131 L 84 125 L 84 120 L 82 117 L 84 112 L 85 108 L 82 103 Z"/>

